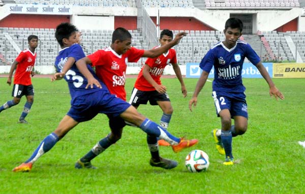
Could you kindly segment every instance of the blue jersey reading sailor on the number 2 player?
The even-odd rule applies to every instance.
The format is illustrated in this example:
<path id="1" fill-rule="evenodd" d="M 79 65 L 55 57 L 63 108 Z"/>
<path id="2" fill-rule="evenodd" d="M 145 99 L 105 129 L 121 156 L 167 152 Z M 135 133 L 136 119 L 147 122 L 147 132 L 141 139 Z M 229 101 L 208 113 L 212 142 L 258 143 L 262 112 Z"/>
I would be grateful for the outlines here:
<path id="1" fill-rule="evenodd" d="M 237 40 L 231 49 L 220 42 L 206 53 L 199 66 L 208 73 L 214 66 L 213 91 L 245 92 L 241 71 L 246 57 L 254 65 L 260 62 L 260 58 L 247 42 Z"/>

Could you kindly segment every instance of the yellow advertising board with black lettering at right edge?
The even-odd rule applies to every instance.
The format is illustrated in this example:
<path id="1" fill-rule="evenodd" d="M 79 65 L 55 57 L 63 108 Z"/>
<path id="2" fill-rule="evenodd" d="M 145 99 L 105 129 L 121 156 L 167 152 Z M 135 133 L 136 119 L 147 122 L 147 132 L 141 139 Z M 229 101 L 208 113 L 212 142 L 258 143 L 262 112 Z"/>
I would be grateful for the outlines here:
<path id="1" fill-rule="evenodd" d="M 305 78 L 305 63 L 273 63 L 273 77 Z"/>

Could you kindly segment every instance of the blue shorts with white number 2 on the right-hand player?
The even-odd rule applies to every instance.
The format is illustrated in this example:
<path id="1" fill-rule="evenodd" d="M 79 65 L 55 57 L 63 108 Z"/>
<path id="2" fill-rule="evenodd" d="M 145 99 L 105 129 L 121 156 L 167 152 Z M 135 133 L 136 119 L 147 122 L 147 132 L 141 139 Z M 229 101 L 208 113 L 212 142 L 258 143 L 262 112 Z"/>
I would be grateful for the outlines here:
<path id="1" fill-rule="evenodd" d="M 213 91 L 212 97 L 214 98 L 218 117 L 221 110 L 229 109 L 232 119 L 234 116 L 242 116 L 248 119 L 248 106 L 245 93 Z"/>

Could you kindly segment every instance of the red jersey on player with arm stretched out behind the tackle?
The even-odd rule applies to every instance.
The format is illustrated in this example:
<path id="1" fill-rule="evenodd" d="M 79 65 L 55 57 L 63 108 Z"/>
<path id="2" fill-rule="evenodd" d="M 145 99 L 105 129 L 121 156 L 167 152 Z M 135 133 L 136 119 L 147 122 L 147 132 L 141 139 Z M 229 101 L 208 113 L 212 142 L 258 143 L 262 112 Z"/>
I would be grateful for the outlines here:
<path id="1" fill-rule="evenodd" d="M 87 56 L 96 67 L 97 76 L 104 82 L 111 94 L 126 101 L 125 80 L 128 62 L 137 62 L 144 50 L 131 47 L 118 55 L 111 47 L 98 50 Z"/>

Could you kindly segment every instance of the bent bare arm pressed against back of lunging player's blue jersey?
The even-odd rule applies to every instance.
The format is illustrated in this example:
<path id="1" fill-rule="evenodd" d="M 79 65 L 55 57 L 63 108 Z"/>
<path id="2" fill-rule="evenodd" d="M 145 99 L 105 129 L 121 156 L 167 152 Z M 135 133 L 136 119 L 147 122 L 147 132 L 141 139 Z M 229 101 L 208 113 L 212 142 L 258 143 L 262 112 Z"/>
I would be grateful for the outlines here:
<path id="1" fill-rule="evenodd" d="M 98 88 L 102 88 L 100 82 L 96 78 L 94 78 L 93 74 L 87 68 L 87 64 L 92 64 L 92 61 L 89 58 L 84 57 L 84 58 L 78 60 L 75 64 L 76 64 L 77 69 L 88 80 L 88 84 L 86 86 L 86 89 L 88 87 L 93 88 L 93 85 L 96 85 Z"/>

